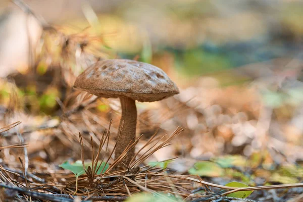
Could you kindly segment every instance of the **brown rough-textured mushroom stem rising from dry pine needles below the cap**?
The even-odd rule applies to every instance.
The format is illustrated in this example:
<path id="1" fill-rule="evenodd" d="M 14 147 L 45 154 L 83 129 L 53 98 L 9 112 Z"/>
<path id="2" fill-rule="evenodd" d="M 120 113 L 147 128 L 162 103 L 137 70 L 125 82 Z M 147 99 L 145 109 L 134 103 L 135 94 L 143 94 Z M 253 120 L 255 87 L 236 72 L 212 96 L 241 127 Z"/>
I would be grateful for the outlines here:
<path id="1" fill-rule="evenodd" d="M 136 137 L 136 125 L 137 125 L 137 108 L 135 100 L 128 97 L 120 97 L 122 117 L 119 124 L 119 132 L 123 122 L 123 127 L 120 135 L 120 139 L 117 142 L 115 150 L 115 159 L 117 159 L 128 146 L 129 143 L 133 143 Z M 135 154 L 135 149 L 131 149 L 128 155 L 122 161 L 125 165 L 129 165 L 131 159 Z"/>

